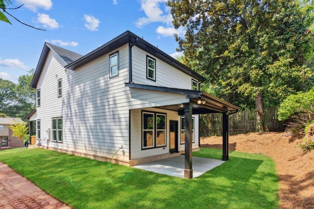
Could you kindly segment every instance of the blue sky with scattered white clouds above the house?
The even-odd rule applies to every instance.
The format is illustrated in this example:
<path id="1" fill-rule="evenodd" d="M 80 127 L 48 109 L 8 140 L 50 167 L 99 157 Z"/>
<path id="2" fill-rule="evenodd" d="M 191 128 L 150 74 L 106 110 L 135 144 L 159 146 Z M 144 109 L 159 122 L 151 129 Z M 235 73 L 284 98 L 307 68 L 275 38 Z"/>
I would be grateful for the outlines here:
<path id="1" fill-rule="evenodd" d="M 176 57 L 173 34 L 184 34 L 172 24 L 167 0 L 11 0 L 7 10 L 20 21 L 46 29 L 36 30 L 13 18 L 0 22 L 0 78 L 18 82 L 36 69 L 45 41 L 86 54 L 126 30 L 143 37 Z"/>

